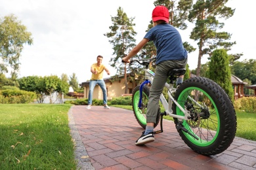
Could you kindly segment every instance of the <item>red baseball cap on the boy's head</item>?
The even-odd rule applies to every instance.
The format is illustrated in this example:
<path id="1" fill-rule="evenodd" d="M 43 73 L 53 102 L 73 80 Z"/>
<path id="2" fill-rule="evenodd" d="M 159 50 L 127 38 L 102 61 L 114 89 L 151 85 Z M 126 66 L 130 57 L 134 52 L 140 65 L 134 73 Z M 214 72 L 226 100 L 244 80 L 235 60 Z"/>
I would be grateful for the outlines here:
<path id="1" fill-rule="evenodd" d="M 152 12 L 153 22 L 156 22 L 158 20 L 164 20 L 165 22 L 168 23 L 169 16 L 170 16 L 169 10 L 163 5 L 157 6 Z"/>

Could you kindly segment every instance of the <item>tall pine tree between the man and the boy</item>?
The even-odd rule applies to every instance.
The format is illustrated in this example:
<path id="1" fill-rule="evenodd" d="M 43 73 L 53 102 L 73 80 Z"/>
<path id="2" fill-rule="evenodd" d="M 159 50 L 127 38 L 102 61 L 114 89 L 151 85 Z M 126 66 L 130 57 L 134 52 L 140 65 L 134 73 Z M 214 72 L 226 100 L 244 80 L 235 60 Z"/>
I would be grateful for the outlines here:
<path id="1" fill-rule="evenodd" d="M 133 26 L 135 26 L 133 24 L 134 19 L 128 18 L 123 9 L 119 7 L 117 16 L 111 17 L 110 32 L 104 34 L 104 36 L 110 38 L 109 42 L 113 45 L 112 49 L 114 50 L 113 55 L 115 57 L 110 59 L 110 65 L 116 68 L 119 74 L 123 73 L 125 76 L 125 93 L 128 91 L 127 67 L 121 65 L 121 58 L 136 45 L 134 37 L 137 33 L 133 29 Z"/>

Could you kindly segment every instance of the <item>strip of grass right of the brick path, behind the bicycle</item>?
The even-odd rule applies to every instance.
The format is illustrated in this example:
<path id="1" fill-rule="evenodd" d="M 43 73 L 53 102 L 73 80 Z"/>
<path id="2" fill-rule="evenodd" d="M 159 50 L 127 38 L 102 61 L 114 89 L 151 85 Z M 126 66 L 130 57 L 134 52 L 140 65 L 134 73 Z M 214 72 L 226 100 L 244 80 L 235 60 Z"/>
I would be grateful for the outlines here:
<path id="1" fill-rule="evenodd" d="M 123 109 L 133 110 L 132 106 L 112 105 L 112 107 L 121 107 Z M 163 109 L 161 109 L 163 112 Z M 170 116 L 163 116 L 167 120 L 173 120 Z M 242 137 L 251 141 L 256 141 L 256 114 L 249 112 L 236 111 L 237 128 L 236 137 Z"/>

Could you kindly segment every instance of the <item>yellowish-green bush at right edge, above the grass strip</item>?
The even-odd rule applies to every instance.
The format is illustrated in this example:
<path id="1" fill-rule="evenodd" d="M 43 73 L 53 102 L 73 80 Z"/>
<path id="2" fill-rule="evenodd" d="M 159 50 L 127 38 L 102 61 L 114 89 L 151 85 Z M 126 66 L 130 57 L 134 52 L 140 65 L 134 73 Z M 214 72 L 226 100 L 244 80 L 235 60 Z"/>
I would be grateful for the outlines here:
<path id="1" fill-rule="evenodd" d="M 245 112 L 256 113 L 256 97 L 242 97 L 234 101 L 234 108 Z"/>

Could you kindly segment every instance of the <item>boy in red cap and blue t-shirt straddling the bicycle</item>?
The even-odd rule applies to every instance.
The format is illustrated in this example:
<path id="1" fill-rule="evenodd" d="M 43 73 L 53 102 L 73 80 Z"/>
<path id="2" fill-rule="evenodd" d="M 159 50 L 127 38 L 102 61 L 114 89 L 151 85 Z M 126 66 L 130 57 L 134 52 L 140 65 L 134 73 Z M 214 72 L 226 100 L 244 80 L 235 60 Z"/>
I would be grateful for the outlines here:
<path id="1" fill-rule="evenodd" d="M 157 6 L 152 12 L 152 27 L 144 36 L 142 41 L 135 46 L 122 60 L 129 63 L 129 59 L 135 56 L 143 46 L 153 41 L 156 46 L 156 73 L 150 95 L 148 99 L 148 108 L 146 112 L 146 129 L 135 142 L 135 144 L 146 144 L 154 141 L 154 124 L 158 114 L 158 104 L 161 92 L 167 81 L 168 73 L 174 68 L 185 68 L 188 52 L 182 44 L 181 35 L 169 22 L 169 10 L 164 6 Z M 177 84 L 182 82 L 183 78 L 177 78 Z"/>

